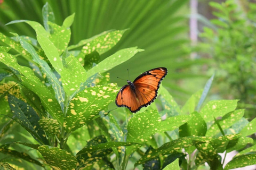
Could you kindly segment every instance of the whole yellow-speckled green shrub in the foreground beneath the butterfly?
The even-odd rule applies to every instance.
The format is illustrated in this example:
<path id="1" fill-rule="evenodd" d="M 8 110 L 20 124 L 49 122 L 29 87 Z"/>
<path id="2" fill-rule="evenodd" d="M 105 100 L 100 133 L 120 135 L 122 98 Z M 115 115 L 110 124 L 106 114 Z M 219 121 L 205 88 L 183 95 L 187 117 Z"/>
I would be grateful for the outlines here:
<path id="1" fill-rule="evenodd" d="M 44 27 L 27 20 L 9 23 L 29 24 L 37 40 L 0 34 L 6 44 L 0 48 L 0 166 L 193 169 L 206 162 L 212 169 L 222 169 L 218 153 L 252 143 L 246 136 L 256 131 L 255 120 L 249 123 L 244 109 L 236 110 L 238 100 L 212 100 L 201 108 L 213 78 L 181 108 L 161 87 L 161 112 L 154 103 L 134 115 L 126 108 L 116 109 L 118 88 L 109 83 L 107 71 L 142 50 L 122 49 L 100 61 L 99 55 L 125 30 L 103 32 L 68 46 L 74 15 L 62 26 L 50 22 L 47 13 L 44 16 Z M 26 58 L 29 67 L 18 63 L 19 57 Z M 239 152 L 225 169 L 255 164 L 254 151 L 252 146 Z"/>

